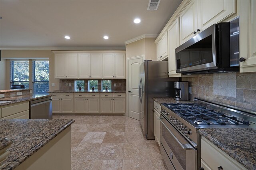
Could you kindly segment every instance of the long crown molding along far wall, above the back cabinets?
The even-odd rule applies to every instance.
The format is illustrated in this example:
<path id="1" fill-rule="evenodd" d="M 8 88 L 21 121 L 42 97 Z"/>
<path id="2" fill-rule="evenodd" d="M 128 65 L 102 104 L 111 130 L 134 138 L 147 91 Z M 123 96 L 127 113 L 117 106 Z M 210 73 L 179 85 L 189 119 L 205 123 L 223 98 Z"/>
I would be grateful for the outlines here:
<path id="1" fill-rule="evenodd" d="M 1 50 L 126 50 L 126 47 L 0 47 Z"/>

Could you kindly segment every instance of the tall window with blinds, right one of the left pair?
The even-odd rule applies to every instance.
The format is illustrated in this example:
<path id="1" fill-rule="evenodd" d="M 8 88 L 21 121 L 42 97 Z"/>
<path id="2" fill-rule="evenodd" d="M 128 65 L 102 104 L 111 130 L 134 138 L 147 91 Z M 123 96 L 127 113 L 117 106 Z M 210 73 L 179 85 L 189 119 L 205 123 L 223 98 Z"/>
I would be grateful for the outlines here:
<path id="1" fill-rule="evenodd" d="M 32 89 L 34 94 L 49 91 L 49 61 L 32 61 Z"/>

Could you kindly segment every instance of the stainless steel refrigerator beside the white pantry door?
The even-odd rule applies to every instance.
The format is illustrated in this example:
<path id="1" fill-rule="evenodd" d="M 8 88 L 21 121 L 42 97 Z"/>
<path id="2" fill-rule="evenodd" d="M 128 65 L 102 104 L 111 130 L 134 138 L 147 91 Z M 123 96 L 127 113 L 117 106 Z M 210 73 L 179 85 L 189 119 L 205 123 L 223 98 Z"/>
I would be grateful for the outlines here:
<path id="1" fill-rule="evenodd" d="M 154 139 L 154 97 L 174 97 L 173 82 L 168 77 L 168 61 L 144 61 L 140 65 L 140 124 L 147 139 Z"/>

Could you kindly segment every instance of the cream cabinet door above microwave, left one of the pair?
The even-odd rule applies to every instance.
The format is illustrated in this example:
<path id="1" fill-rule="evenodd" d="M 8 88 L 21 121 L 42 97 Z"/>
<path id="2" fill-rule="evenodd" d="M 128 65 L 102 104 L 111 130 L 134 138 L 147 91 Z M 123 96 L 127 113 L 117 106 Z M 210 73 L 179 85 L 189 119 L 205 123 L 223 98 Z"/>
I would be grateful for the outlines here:
<path id="1" fill-rule="evenodd" d="M 197 0 L 190 4 L 180 14 L 180 45 L 194 37 L 194 31 L 198 29 Z"/>

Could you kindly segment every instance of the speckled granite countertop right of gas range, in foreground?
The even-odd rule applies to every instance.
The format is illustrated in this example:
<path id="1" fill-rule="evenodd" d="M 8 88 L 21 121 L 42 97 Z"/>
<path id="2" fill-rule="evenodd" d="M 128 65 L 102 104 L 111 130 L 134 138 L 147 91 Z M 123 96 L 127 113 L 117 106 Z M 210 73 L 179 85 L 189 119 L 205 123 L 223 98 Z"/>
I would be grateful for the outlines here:
<path id="1" fill-rule="evenodd" d="M 256 128 L 201 128 L 198 132 L 248 170 L 256 169 Z"/>

